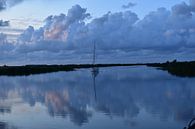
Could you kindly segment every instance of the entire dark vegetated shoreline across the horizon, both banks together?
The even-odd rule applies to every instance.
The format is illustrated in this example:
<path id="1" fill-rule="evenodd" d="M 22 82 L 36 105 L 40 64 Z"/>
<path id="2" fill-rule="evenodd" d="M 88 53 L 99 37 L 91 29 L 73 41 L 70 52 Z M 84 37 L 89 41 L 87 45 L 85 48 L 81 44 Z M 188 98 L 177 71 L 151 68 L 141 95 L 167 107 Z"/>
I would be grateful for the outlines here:
<path id="1" fill-rule="evenodd" d="M 195 61 L 148 64 L 80 64 L 80 65 L 26 65 L 26 66 L 0 66 L 0 76 L 28 76 L 32 74 L 51 73 L 59 71 L 74 71 L 76 69 L 93 67 L 138 66 L 146 65 L 168 71 L 178 77 L 195 77 Z"/>

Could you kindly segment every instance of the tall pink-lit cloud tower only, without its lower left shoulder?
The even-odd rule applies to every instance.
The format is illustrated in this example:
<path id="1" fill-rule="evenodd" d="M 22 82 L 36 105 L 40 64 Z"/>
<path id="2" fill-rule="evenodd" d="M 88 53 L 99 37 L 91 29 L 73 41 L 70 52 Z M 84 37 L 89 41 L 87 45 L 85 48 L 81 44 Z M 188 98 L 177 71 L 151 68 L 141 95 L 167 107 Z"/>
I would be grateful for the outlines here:
<path id="1" fill-rule="evenodd" d="M 85 8 L 79 5 L 73 6 L 68 10 L 67 15 L 61 14 L 59 16 L 49 16 L 45 21 L 44 38 L 66 40 L 68 36 L 68 28 L 72 24 L 82 24 L 83 20 L 89 17 L 90 14 L 86 13 Z M 84 22 L 83 22 L 84 23 Z"/>

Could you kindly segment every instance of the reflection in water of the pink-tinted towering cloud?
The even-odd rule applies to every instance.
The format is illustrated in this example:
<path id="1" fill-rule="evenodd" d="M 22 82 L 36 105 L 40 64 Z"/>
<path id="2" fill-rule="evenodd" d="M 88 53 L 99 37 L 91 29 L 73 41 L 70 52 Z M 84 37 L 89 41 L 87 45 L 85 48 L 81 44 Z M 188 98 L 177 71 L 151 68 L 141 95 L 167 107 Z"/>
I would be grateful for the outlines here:
<path id="1" fill-rule="evenodd" d="M 51 116 L 66 118 L 70 114 L 71 121 L 79 126 L 87 123 L 91 116 L 91 113 L 87 112 L 85 108 L 72 106 L 69 102 L 68 93 L 47 92 L 45 105 L 48 107 Z"/>

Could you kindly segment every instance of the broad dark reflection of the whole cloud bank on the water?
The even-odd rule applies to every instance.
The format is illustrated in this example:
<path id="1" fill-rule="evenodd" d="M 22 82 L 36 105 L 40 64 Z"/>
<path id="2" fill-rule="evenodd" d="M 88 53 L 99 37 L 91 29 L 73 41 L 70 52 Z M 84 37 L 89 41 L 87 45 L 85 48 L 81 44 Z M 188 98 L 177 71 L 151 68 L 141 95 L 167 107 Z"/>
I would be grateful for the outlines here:
<path id="1" fill-rule="evenodd" d="M 40 103 L 51 117 L 70 119 L 77 126 L 90 123 L 98 112 L 134 126 L 142 124 L 138 119 L 145 119 L 143 111 L 153 119 L 176 123 L 195 115 L 193 78 L 146 67 L 115 67 L 100 69 L 95 84 L 96 91 L 90 70 L 0 77 L 0 115 L 11 114 L 20 103 L 30 107 Z"/>

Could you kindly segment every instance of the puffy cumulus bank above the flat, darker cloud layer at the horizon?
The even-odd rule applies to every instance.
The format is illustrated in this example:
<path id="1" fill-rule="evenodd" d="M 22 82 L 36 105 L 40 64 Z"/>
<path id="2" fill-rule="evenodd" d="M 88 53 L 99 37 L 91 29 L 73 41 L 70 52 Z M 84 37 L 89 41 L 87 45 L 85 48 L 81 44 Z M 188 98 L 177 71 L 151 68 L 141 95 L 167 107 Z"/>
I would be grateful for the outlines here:
<path id="1" fill-rule="evenodd" d="M 109 50 L 184 47 L 194 34 L 195 27 L 194 16 L 187 7 L 189 5 L 182 3 L 175 5 L 172 11 L 159 8 L 140 20 L 131 11 L 108 12 L 86 24 L 84 20 L 90 14 L 76 5 L 67 15 L 49 16 L 45 26 L 39 30 L 29 27 L 19 40 L 63 41 L 67 46 L 78 48 L 91 47 L 91 42 L 95 40 L 98 47 Z"/>

